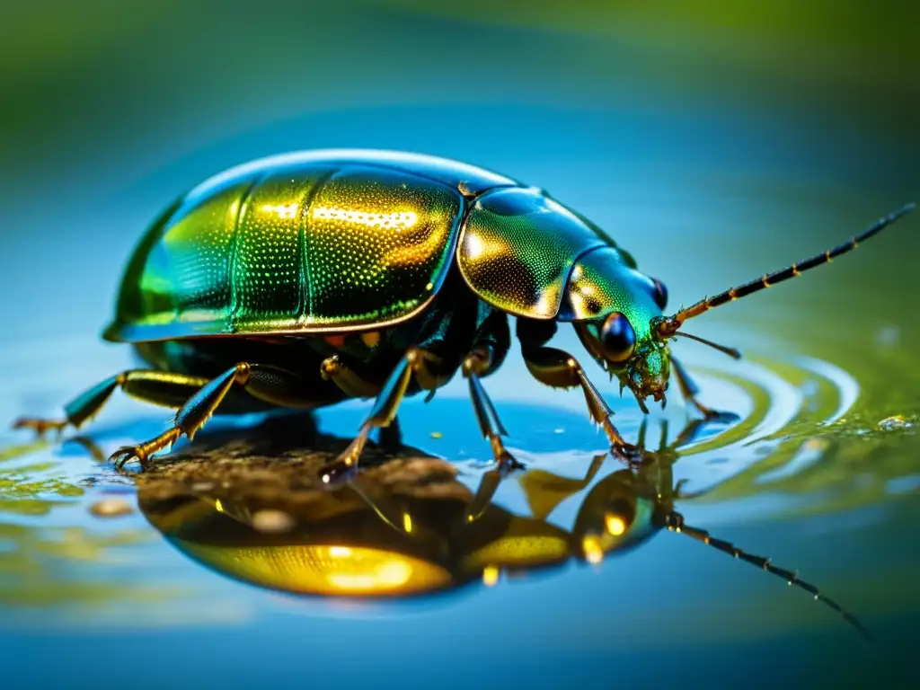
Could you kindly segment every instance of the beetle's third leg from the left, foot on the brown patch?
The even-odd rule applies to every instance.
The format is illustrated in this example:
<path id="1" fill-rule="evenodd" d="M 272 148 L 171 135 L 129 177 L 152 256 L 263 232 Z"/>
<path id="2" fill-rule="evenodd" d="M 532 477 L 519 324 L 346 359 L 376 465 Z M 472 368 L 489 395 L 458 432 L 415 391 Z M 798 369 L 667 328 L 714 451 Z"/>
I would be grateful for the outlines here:
<path id="1" fill-rule="evenodd" d="M 403 358 L 386 379 L 384 387 L 374 400 L 371 414 L 358 431 L 358 435 L 349 443 L 348 447 L 339 454 L 333 462 L 319 471 L 319 478 L 324 484 L 336 486 L 344 479 L 352 477 L 358 470 L 358 459 L 361 457 L 367 437 L 376 427 L 389 426 L 396 418 L 399 403 L 406 395 L 412 374 L 420 372 L 425 367 L 428 352 L 421 348 L 409 348 Z"/>

